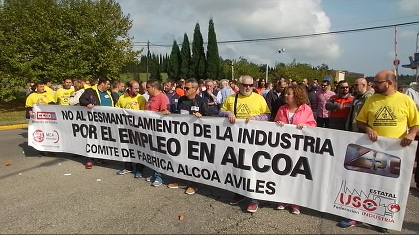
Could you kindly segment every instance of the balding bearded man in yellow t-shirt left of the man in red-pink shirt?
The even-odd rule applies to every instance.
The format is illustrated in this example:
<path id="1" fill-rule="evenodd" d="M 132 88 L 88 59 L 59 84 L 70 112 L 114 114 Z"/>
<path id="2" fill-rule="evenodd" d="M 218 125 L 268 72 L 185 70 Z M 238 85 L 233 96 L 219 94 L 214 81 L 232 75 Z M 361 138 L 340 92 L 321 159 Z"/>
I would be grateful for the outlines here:
<path id="1" fill-rule="evenodd" d="M 115 104 L 117 108 L 124 109 L 135 109 L 135 110 L 144 110 L 145 104 L 147 101 L 145 98 L 139 94 L 140 84 L 136 80 L 131 80 L 127 82 L 127 91 L 125 94 L 119 96 L 118 101 Z M 141 178 L 144 165 L 137 163 L 135 164 L 134 178 Z M 118 170 L 117 175 L 125 175 L 127 173 L 132 173 L 134 171 L 134 163 L 125 162 L 125 168 Z"/>

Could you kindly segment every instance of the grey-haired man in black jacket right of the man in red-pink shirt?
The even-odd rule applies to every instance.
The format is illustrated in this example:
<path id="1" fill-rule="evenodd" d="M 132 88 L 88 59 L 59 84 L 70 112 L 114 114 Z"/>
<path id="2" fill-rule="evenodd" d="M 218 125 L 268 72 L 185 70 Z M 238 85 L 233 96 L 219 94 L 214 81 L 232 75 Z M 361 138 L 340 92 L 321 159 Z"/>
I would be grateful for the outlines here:
<path id="1" fill-rule="evenodd" d="M 199 85 L 195 79 L 188 79 L 183 89 L 185 90 L 185 95 L 179 98 L 176 113 L 194 115 L 197 118 L 211 116 L 205 99 L 197 95 Z M 168 184 L 168 188 L 186 188 L 185 193 L 189 195 L 194 194 L 198 189 L 196 185 L 190 185 L 188 187 L 186 182 L 182 181 Z"/>

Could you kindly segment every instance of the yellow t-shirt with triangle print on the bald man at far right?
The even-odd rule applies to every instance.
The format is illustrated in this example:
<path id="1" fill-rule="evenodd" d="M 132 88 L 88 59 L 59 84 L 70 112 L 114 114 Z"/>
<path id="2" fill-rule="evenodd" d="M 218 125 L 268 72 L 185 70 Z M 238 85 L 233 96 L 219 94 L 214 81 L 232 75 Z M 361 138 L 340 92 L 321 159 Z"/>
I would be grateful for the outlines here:
<path id="1" fill-rule="evenodd" d="M 413 99 L 396 92 L 374 94 L 361 109 L 357 121 L 368 124 L 379 136 L 402 139 L 406 128 L 419 125 L 418 110 Z"/>

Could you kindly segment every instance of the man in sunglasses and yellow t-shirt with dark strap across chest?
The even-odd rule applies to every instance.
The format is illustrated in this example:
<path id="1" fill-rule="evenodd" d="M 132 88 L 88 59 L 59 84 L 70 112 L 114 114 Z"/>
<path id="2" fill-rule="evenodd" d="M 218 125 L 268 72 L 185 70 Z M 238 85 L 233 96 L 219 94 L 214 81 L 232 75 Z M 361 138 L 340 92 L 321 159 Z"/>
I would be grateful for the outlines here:
<path id="1" fill-rule="evenodd" d="M 246 119 L 245 123 L 250 120 L 268 121 L 271 117 L 271 111 L 262 95 L 253 93 L 253 78 L 249 75 L 243 75 L 239 78 L 239 92 L 228 96 L 220 108 L 219 116 L 227 117 L 231 124 L 236 122 L 236 118 Z M 230 204 L 236 205 L 246 198 L 240 194 L 236 194 L 231 199 Z M 250 199 L 247 211 L 256 212 L 259 208 L 259 202 Z"/>

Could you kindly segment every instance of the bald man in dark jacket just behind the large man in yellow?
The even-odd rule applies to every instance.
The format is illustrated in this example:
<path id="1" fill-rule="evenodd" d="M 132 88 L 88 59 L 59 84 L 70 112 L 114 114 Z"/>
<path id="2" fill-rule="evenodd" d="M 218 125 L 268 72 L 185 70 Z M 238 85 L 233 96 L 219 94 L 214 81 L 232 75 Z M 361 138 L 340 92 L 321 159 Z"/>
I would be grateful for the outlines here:
<path id="1" fill-rule="evenodd" d="M 359 132 L 356 118 L 359 112 L 361 111 L 366 99 L 373 95 L 373 93 L 368 91 L 368 82 L 363 77 L 355 80 L 354 88 L 355 93 L 357 95 L 355 96 L 351 106 L 351 110 L 349 111 L 349 116 L 346 120 L 345 129 L 347 131 Z"/>

